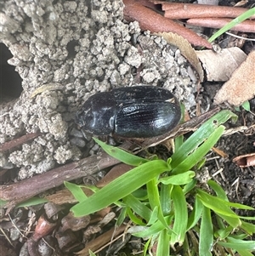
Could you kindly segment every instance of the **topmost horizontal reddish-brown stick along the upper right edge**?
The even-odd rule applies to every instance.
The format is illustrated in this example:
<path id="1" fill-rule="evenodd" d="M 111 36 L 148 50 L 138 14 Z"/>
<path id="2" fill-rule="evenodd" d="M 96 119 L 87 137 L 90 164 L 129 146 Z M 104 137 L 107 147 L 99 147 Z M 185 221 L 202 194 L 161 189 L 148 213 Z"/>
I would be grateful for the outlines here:
<path id="1" fill-rule="evenodd" d="M 168 19 L 190 19 L 190 18 L 236 18 L 248 9 L 241 7 L 215 6 L 207 4 L 193 3 L 165 3 L 155 1 L 161 4 L 164 16 Z M 253 15 L 250 19 L 255 19 Z"/>

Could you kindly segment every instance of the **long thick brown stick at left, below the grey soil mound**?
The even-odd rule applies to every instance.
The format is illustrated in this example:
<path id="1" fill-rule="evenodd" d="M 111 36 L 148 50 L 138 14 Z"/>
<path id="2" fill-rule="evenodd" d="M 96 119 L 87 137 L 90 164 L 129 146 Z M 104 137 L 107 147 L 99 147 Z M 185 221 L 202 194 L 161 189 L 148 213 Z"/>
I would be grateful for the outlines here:
<path id="1" fill-rule="evenodd" d="M 43 191 L 63 185 L 65 180 L 68 181 L 95 174 L 99 170 L 115 165 L 118 162 L 118 160 L 107 155 L 105 152 L 98 153 L 97 155 L 54 168 L 47 173 L 22 180 L 13 185 L 1 185 L 1 199 L 8 201 L 7 205 L 5 205 L 8 208 L 8 213 L 17 203 L 26 201 Z"/>

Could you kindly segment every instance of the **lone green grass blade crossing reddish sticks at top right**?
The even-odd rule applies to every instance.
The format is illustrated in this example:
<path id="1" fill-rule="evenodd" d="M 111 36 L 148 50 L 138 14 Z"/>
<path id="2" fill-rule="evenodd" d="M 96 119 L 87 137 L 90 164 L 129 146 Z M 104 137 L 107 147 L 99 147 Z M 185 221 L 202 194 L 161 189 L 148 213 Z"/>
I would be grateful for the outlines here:
<path id="1" fill-rule="evenodd" d="M 252 9 L 247 10 L 245 13 L 236 17 L 234 20 L 231 20 L 228 24 L 226 24 L 219 31 L 217 31 L 214 35 L 212 35 L 212 37 L 210 37 L 208 39 L 208 42 L 212 43 L 212 41 L 214 41 L 217 37 L 222 35 L 225 31 L 230 30 L 233 26 L 236 26 L 237 24 L 241 23 L 243 20 L 247 20 L 252 15 L 255 15 L 255 7 L 253 7 Z"/>

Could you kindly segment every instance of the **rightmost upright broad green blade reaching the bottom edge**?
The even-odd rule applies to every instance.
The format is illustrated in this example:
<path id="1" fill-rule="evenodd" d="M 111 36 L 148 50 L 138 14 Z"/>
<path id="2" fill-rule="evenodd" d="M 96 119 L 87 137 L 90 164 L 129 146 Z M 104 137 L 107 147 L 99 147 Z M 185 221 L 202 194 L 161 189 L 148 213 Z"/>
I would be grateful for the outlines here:
<path id="1" fill-rule="evenodd" d="M 211 210 L 203 208 L 201 218 L 201 230 L 199 237 L 199 255 L 212 256 L 211 249 L 213 244 L 213 228 Z"/>

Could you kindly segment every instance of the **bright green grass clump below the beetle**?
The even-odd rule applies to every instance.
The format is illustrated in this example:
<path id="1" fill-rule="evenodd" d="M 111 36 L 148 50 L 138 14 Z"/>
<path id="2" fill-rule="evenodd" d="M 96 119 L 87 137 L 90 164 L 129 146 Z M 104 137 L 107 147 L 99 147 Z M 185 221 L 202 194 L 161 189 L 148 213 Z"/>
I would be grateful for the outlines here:
<path id="1" fill-rule="evenodd" d="M 182 255 L 252 255 L 255 225 L 249 220 L 255 218 L 239 216 L 232 208 L 253 208 L 229 202 L 212 179 L 206 189 L 195 179 L 207 152 L 224 133 L 222 123 L 231 117 L 231 111 L 221 111 L 189 139 L 176 138 L 175 152 L 167 161 L 133 156 L 95 139 L 109 155 L 134 168 L 100 190 L 92 188 L 95 192 L 89 197 L 77 185 L 66 183 L 79 201 L 71 211 L 82 216 L 116 204 L 121 208 L 116 225 L 128 217 L 133 223 L 128 232 L 147 241 L 143 255 L 155 246 L 158 256 L 173 255 L 175 250 Z"/>

